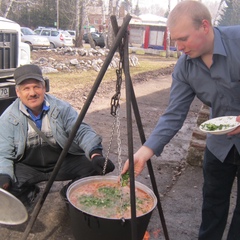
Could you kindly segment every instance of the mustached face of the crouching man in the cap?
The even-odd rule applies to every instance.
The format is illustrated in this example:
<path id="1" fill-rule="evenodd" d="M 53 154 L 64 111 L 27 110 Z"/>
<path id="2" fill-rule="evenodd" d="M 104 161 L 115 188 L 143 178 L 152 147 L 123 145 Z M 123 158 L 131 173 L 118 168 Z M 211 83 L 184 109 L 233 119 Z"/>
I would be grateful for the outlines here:
<path id="1" fill-rule="evenodd" d="M 36 115 L 42 110 L 45 92 L 42 83 L 35 79 L 25 80 L 16 88 L 17 96 Z"/>

